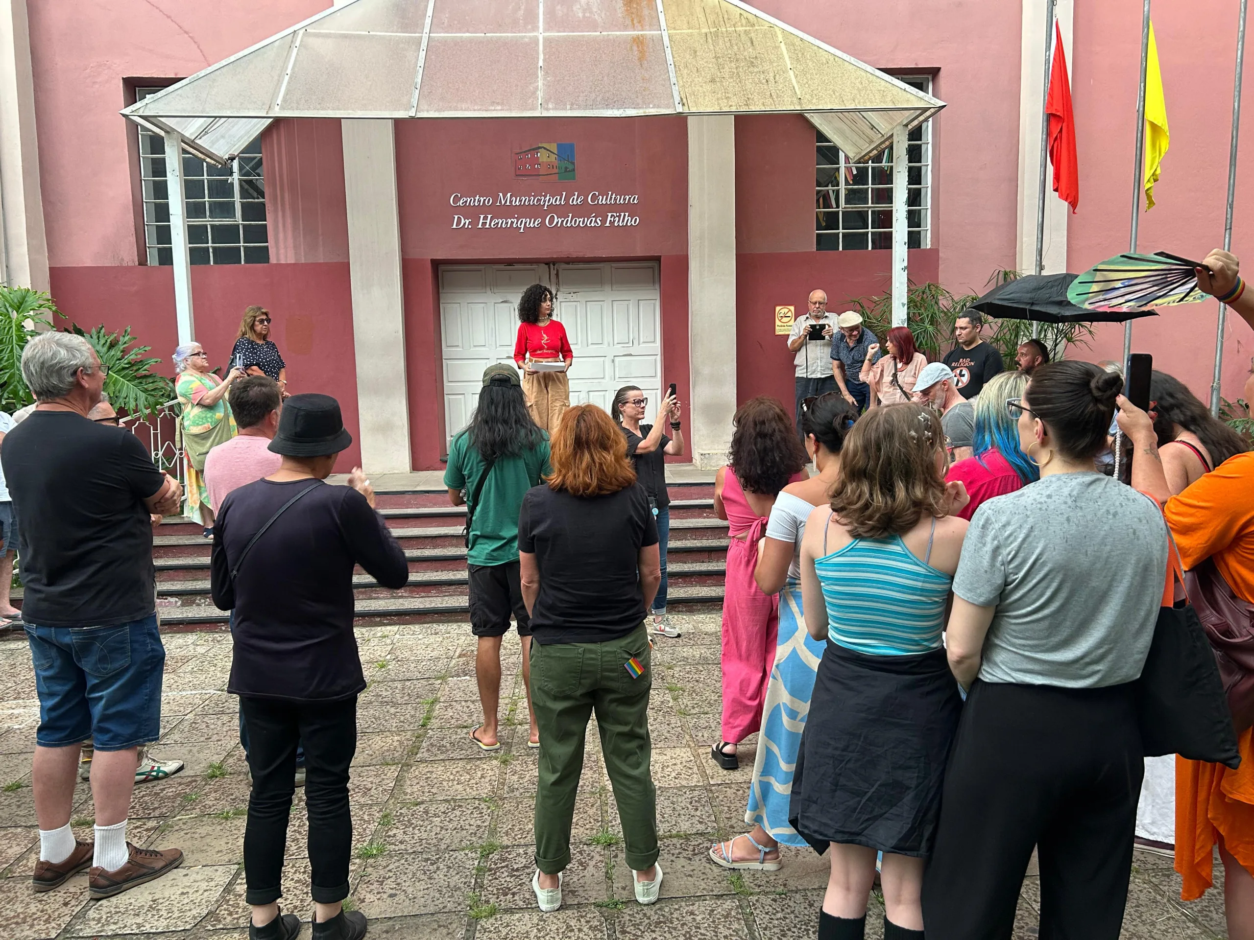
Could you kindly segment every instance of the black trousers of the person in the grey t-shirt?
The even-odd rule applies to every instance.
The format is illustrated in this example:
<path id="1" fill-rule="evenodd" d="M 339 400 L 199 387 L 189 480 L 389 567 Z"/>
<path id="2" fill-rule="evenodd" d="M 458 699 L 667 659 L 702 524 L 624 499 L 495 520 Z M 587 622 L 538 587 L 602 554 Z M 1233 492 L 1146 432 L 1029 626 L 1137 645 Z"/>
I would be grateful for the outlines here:
<path id="1" fill-rule="evenodd" d="M 1009 940 L 1033 846 L 1041 940 L 1117 940 L 1144 773 L 1131 683 L 977 681 L 923 877 L 928 940 Z"/>

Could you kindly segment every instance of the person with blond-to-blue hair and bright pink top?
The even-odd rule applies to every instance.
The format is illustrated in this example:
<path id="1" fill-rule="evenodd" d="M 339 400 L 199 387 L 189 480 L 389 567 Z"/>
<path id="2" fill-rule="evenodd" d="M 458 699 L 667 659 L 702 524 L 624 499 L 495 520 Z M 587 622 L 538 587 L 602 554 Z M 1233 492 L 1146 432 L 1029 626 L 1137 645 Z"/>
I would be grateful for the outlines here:
<path id="1" fill-rule="evenodd" d="M 1041 470 L 1018 442 L 1018 429 L 1006 409 L 1007 399 L 1020 399 L 1027 389 L 1026 372 L 999 372 L 989 379 L 976 399 L 972 431 L 973 456 L 949 467 L 946 481 L 961 480 L 971 501 L 956 515 L 971 520 L 981 503 L 1027 486 L 1041 479 Z"/>

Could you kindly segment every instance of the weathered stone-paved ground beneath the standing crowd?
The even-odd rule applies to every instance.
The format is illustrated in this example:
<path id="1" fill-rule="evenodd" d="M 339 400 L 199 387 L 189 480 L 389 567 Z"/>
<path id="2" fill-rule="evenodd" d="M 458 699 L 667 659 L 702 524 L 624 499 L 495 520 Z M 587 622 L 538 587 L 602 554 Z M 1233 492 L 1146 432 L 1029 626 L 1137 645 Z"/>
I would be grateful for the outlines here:
<path id="1" fill-rule="evenodd" d="M 534 907 L 529 881 L 535 752 L 525 744 L 518 642 L 507 642 L 502 717 L 505 747 L 484 755 L 468 741 L 479 712 L 473 639 L 465 624 L 359 630 L 370 679 L 359 706 L 352 771 L 355 856 L 352 904 L 371 919 L 372 937 L 406 940 L 809 940 L 826 882 L 825 860 L 786 850 L 776 874 L 734 876 L 705 859 L 719 835 L 742 823 L 751 752 L 729 773 L 709 758 L 719 728 L 719 618 L 676 618 L 681 639 L 655 658 L 651 708 L 653 778 L 663 835 L 663 900 L 632 899 L 613 796 L 589 742 L 574 816 L 566 906 Z M 159 756 L 187 770 L 135 791 L 130 838 L 179 846 L 184 866 L 100 902 L 87 900 L 80 875 L 34 895 L 38 836 L 30 752 L 38 723 L 30 654 L 0 643 L 0 937 L 241 940 L 247 936 L 241 869 L 248 783 L 236 736 L 236 699 L 224 694 L 231 663 L 226 634 L 171 634 Z M 297 791 L 288 836 L 285 909 L 306 921 L 307 826 Z M 75 825 L 90 837 L 87 785 L 75 796 Z M 1036 879 L 1023 885 L 1016 937 L 1036 936 Z M 1223 900 L 1211 891 L 1181 904 L 1169 859 L 1136 854 L 1125 937 L 1201 940 L 1225 936 Z M 868 936 L 879 937 L 882 909 Z M 308 936 L 306 925 L 302 937 Z"/>

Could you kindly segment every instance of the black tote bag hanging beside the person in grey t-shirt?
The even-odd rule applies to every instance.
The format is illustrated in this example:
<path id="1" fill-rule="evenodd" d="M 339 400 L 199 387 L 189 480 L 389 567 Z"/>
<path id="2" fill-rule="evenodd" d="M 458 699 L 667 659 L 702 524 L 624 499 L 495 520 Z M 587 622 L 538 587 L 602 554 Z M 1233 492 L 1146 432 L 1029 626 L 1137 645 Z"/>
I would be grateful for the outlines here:
<path id="1" fill-rule="evenodd" d="M 1183 583 L 1174 540 L 1169 551 L 1171 578 Z M 1180 755 L 1231 768 L 1241 762 L 1215 653 L 1188 600 L 1159 608 L 1136 681 L 1136 713 L 1146 757 Z"/>

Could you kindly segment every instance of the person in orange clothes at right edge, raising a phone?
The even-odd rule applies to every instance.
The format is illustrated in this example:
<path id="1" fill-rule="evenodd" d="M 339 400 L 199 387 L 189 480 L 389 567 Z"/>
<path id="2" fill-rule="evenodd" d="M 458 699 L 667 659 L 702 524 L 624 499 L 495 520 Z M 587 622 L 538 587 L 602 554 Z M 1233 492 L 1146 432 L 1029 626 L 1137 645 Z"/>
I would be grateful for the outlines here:
<path id="1" fill-rule="evenodd" d="M 1238 454 L 1171 495 L 1154 424 L 1120 397 L 1119 426 L 1131 440 L 1132 485 L 1164 505 L 1185 569 L 1208 558 L 1233 593 L 1254 603 L 1254 452 Z M 1238 738 L 1241 763 L 1176 757 L 1175 869 L 1186 901 L 1214 885 L 1215 846 L 1224 862 L 1229 940 L 1254 940 L 1254 729 Z"/>

